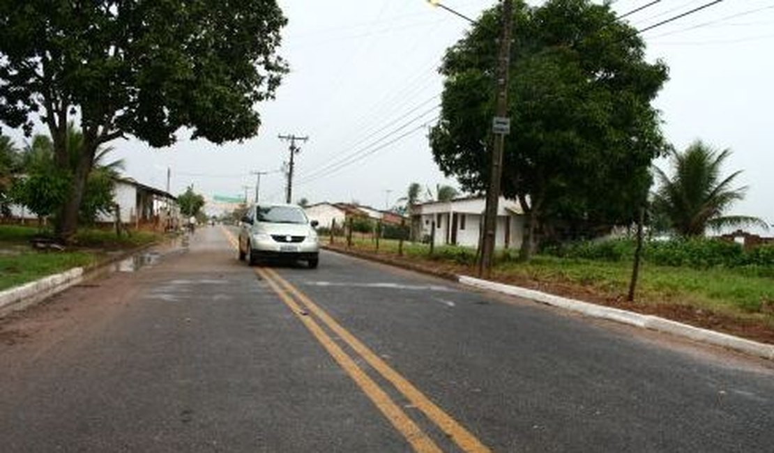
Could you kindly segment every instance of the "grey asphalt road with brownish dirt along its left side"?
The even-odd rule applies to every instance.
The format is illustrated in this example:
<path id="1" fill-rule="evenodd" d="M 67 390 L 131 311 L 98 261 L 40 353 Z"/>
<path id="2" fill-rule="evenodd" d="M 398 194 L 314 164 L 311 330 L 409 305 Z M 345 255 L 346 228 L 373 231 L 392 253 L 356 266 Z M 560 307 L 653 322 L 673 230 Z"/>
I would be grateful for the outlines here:
<path id="1" fill-rule="evenodd" d="M 231 247 L 205 228 L 2 322 L 0 451 L 772 451 L 771 363 Z"/>

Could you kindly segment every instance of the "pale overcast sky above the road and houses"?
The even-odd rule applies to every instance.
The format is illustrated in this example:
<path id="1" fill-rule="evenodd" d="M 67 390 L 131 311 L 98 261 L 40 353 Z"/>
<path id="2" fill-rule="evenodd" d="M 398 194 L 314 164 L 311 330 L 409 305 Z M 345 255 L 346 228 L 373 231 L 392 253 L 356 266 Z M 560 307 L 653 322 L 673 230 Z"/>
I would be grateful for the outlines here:
<path id="1" fill-rule="evenodd" d="M 618 0 L 614 8 L 623 14 L 649 2 Z M 627 19 L 642 29 L 707 2 L 662 0 Z M 493 4 L 444 2 L 473 18 Z M 260 198 L 283 201 L 279 170 L 288 144 L 277 135 L 295 134 L 308 135 L 309 141 L 296 155 L 293 201 L 356 200 L 384 208 L 396 203 L 410 182 L 433 189 L 456 186 L 433 162 L 426 125 L 437 117 L 440 57 L 470 25 L 426 0 L 280 0 L 279 5 L 289 19 L 280 54 L 291 72 L 276 100 L 259 106 L 259 136 L 217 146 L 189 141 L 182 133 L 176 145 L 163 149 L 115 141 L 114 155 L 125 159 L 125 174 L 164 189 L 170 168 L 173 194 L 193 184 L 207 198 L 246 191 L 252 200 L 250 172 L 272 172 L 262 175 Z M 739 182 L 750 186 L 735 213 L 769 223 L 774 223 L 774 153 L 766 135 L 774 131 L 772 26 L 774 1 L 725 0 L 642 34 L 649 60 L 661 58 L 670 66 L 670 81 L 656 101 L 666 137 L 680 149 L 696 138 L 731 148 L 726 170 L 743 169 Z M 18 131 L 3 131 L 21 139 Z"/>

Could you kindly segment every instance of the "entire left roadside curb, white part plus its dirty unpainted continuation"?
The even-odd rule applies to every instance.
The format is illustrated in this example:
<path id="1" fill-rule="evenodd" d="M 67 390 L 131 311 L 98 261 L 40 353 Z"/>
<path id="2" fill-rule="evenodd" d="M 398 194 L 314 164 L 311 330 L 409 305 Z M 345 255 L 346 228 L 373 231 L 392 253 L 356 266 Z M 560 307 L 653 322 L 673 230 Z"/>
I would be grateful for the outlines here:
<path id="1" fill-rule="evenodd" d="M 122 254 L 108 257 L 104 261 L 88 267 L 73 267 L 60 274 L 53 274 L 40 278 L 36 281 L 15 286 L 13 288 L 0 291 L 0 318 L 5 318 L 12 312 L 23 310 L 31 305 L 45 301 L 53 295 L 70 288 L 75 284 L 80 284 L 84 280 L 101 275 L 108 266 L 123 261 L 128 257 L 139 254 L 143 250 L 158 245 L 158 243 L 145 244 L 135 249 L 128 250 Z"/>

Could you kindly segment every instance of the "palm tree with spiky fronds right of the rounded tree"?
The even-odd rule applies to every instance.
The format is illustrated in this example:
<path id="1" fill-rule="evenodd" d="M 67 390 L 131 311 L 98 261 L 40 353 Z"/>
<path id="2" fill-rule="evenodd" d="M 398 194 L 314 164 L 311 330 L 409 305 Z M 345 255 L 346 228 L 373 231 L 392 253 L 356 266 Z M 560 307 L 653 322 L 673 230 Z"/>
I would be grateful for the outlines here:
<path id="1" fill-rule="evenodd" d="M 728 226 L 768 229 L 758 217 L 725 215 L 733 203 L 744 199 L 747 190 L 747 186 L 731 187 L 741 170 L 721 179 L 721 166 L 729 155 L 730 149 L 718 152 L 697 140 L 684 152 L 673 152 L 672 178 L 655 169 L 660 188 L 654 194 L 653 207 L 669 219 L 676 233 L 701 236 L 707 228 L 720 230 Z"/>

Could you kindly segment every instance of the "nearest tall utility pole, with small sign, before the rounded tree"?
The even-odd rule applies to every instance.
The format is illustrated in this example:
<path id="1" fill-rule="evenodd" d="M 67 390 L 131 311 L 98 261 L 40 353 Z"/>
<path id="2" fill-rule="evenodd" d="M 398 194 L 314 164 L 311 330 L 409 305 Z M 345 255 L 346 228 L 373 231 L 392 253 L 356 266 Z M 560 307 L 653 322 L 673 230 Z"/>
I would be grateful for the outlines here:
<path id="1" fill-rule="evenodd" d="M 497 210 L 500 198 L 500 179 L 502 177 L 502 152 L 505 147 L 505 135 L 509 133 L 508 118 L 508 71 L 511 64 L 511 27 L 513 23 L 513 2 L 502 0 L 502 39 L 498 58 L 498 93 L 497 110 L 492 118 L 492 131 L 495 143 L 491 152 L 489 172 L 489 187 L 486 193 L 486 208 L 484 213 L 484 237 L 481 247 L 481 261 L 478 263 L 478 275 L 488 278 L 491 275 L 491 264 L 495 256 L 495 231 L 497 226 Z"/>

